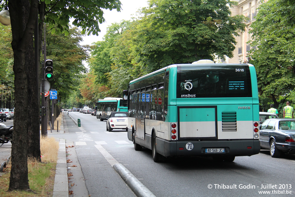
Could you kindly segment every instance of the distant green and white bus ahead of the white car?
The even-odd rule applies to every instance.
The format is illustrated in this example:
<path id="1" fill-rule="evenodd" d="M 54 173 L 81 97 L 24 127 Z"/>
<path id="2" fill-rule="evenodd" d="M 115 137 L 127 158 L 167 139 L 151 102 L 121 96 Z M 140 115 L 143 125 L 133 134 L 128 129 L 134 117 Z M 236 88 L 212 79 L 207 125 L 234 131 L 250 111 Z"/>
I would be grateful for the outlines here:
<path id="1" fill-rule="evenodd" d="M 99 99 L 96 105 L 96 118 L 99 118 L 100 121 L 107 120 L 111 112 L 127 112 L 128 110 L 128 101 L 123 100 L 123 98 L 106 97 L 104 99 Z"/>

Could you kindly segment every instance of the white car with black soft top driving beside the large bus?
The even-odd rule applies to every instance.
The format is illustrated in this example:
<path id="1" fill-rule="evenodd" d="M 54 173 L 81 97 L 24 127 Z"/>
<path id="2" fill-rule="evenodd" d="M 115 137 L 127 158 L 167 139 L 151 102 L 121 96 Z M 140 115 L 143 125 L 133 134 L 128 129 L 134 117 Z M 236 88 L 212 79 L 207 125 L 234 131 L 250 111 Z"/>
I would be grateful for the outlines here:
<path id="1" fill-rule="evenodd" d="M 106 122 L 106 130 L 124 129 L 128 131 L 128 113 L 127 112 L 112 112 Z"/>

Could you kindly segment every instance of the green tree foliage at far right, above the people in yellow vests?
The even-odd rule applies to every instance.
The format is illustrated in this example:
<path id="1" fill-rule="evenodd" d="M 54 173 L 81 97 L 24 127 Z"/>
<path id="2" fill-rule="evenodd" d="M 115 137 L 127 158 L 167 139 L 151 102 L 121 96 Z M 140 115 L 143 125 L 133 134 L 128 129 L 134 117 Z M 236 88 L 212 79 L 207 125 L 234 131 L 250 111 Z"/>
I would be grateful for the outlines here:
<path id="1" fill-rule="evenodd" d="M 288 98 L 295 88 L 295 25 L 288 22 L 292 18 L 284 10 L 290 8 L 290 2 L 269 0 L 263 3 L 251 25 L 251 44 L 257 46 L 257 50 L 252 49 L 249 61 L 256 67 L 260 95 L 271 98 L 275 106 L 279 105 L 280 96 Z M 292 15 L 295 8 L 290 9 Z"/>

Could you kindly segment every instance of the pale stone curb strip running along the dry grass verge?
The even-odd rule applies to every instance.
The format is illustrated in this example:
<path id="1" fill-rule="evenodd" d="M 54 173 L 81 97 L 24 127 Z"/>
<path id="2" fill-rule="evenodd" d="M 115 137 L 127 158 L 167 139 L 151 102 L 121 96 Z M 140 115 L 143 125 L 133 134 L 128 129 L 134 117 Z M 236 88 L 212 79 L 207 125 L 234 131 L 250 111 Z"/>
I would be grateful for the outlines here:
<path id="1" fill-rule="evenodd" d="M 56 164 L 52 196 L 69 196 L 68 174 L 66 169 L 66 140 L 64 139 L 59 139 L 58 160 Z"/>

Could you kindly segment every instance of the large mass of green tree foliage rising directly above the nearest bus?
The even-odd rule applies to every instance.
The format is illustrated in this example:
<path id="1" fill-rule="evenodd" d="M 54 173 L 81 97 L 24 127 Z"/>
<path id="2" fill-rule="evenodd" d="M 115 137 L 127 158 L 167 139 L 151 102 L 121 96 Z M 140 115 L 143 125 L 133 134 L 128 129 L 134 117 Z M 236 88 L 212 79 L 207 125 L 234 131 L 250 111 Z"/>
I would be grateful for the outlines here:
<path id="1" fill-rule="evenodd" d="M 228 0 L 150 0 L 140 17 L 108 27 L 91 49 L 90 68 L 102 94 L 121 97 L 129 81 L 170 64 L 232 57 L 244 16 L 230 16 Z"/>

